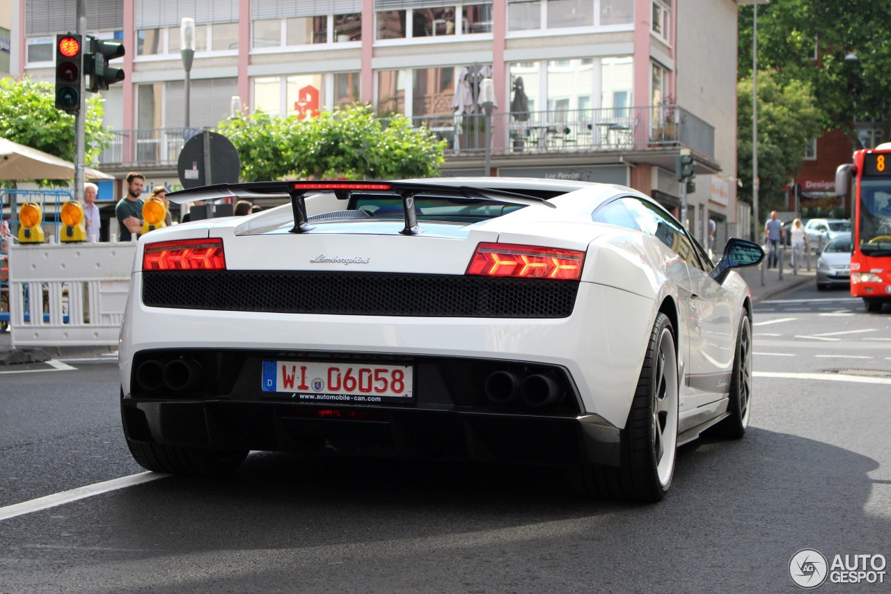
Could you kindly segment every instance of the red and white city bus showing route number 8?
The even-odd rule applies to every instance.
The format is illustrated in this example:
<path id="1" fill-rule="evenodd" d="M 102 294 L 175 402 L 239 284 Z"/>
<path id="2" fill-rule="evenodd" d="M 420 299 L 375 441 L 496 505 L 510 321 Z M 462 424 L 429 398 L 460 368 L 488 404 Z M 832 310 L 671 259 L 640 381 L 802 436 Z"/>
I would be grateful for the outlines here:
<path id="1" fill-rule="evenodd" d="M 847 196 L 854 179 L 851 295 L 869 312 L 891 304 L 891 142 L 854 152 L 838 166 L 836 194 Z"/>

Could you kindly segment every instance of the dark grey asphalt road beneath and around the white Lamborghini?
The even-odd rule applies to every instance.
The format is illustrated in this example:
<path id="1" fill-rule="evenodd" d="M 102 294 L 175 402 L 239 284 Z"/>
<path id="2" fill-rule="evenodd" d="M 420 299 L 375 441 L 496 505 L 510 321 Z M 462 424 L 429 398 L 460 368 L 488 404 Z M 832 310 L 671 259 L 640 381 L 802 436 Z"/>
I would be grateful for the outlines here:
<path id="1" fill-rule="evenodd" d="M 255 453 L 0 519 L 0 592 L 793 592 L 799 549 L 891 557 L 889 314 L 808 287 L 755 323 L 748 434 L 683 447 L 657 505 L 543 468 Z M 0 517 L 142 472 L 113 362 L 56 365 L 0 375 Z"/>

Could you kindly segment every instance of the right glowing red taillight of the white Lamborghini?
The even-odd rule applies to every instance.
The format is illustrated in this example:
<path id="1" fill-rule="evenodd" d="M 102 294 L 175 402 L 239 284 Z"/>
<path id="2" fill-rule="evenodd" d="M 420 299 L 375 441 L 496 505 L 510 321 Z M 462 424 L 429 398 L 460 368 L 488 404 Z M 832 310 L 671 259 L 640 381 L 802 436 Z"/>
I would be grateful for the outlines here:
<path id="1" fill-rule="evenodd" d="M 533 248 L 506 243 L 480 243 L 468 274 L 512 276 L 523 279 L 578 281 L 584 252 L 574 249 Z"/>

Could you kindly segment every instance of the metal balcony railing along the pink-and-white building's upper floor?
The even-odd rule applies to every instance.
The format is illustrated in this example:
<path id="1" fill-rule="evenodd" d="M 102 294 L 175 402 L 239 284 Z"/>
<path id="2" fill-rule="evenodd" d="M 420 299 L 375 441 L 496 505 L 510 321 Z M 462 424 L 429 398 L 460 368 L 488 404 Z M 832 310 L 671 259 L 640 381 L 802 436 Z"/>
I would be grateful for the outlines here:
<path id="1" fill-rule="evenodd" d="M 413 118 L 446 141 L 446 157 L 482 155 L 486 129 L 493 155 L 646 151 L 683 146 L 715 156 L 715 128 L 678 105 L 599 110 L 497 112 L 491 126 L 482 113 Z M 118 130 L 102 151 L 100 167 L 176 167 L 197 128 Z"/>

